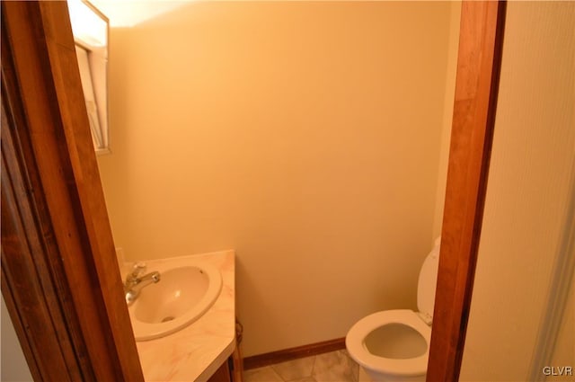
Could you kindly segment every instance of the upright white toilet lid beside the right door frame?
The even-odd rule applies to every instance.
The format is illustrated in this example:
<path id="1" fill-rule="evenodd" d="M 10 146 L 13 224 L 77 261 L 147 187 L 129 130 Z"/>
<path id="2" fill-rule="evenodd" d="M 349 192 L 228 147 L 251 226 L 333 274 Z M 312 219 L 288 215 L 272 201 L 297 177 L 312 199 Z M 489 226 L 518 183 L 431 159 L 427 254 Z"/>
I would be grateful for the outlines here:
<path id="1" fill-rule="evenodd" d="M 441 237 L 435 241 L 433 249 L 425 258 L 420 270 L 420 280 L 417 284 L 417 307 L 420 315 L 431 323 L 433 306 L 435 305 L 435 289 L 438 282 L 439 244 Z M 427 319 L 426 319 L 427 318 Z"/>

